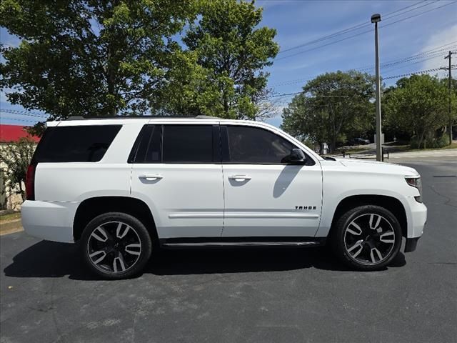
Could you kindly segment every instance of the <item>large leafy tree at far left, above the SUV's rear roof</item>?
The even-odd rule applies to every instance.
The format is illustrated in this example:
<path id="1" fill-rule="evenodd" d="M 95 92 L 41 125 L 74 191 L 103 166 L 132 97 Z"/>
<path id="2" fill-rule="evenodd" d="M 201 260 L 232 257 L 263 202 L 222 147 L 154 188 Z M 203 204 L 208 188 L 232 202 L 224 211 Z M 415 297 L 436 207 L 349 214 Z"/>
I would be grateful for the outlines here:
<path id="1" fill-rule="evenodd" d="M 0 88 L 51 119 L 144 113 L 187 58 L 174 35 L 195 14 L 191 0 L 1 1 L 21 44 L 1 46 Z"/>

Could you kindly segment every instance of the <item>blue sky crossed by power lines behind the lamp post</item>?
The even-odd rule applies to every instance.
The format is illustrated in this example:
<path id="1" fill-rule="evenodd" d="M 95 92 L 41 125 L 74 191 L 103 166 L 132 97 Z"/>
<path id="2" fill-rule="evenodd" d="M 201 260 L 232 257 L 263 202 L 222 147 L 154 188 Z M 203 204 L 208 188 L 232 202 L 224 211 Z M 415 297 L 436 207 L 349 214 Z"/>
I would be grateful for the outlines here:
<path id="1" fill-rule="evenodd" d="M 348 38 L 363 31 L 373 30 L 373 25 L 369 24 L 373 13 L 380 13 L 385 18 L 379 24 L 381 64 L 420 54 L 452 41 L 456 43 L 451 46 L 451 50 L 457 49 L 457 1 L 257 0 L 256 5 L 263 7 L 261 26 L 277 30 L 276 41 L 281 46 L 281 50 L 305 44 L 358 24 L 368 24 L 332 39 L 278 54 L 273 66 L 268 67 L 271 73 L 268 84 L 278 94 L 300 91 L 306 83 L 304 80 L 326 71 L 373 66 L 373 31 Z M 398 11 L 406 7 L 408 8 Z M 388 18 L 388 14 L 394 11 L 398 12 Z M 414 17 L 406 19 L 408 16 Z M 399 22 L 393 23 L 394 21 Z M 9 36 L 3 28 L 0 29 L 0 35 L 2 43 L 18 44 L 18 40 Z M 345 40 L 335 42 L 339 39 Z M 319 47 L 324 44 L 328 45 Z M 302 52 L 309 49 L 312 50 Z M 286 57 L 291 54 L 295 56 Z M 430 56 L 428 60 L 416 59 L 381 68 L 381 76 L 396 76 L 445 66 L 444 56 L 445 51 L 442 55 L 438 52 L 437 56 Z M 374 72 L 373 69 L 366 71 Z M 432 74 L 443 77 L 446 73 L 447 71 L 441 70 Z M 396 79 L 389 79 L 386 80 L 386 84 L 393 84 L 395 81 Z M 278 126 L 281 124 L 281 109 L 291 100 L 291 96 L 274 99 L 278 114 L 267 122 Z M 4 92 L 0 94 L 0 106 L 1 109 L 21 109 L 20 106 L 9 104 Z M 18 120 L 11 120 L 6 117 L 11 118 L 12 115 L 4 113 L 1 116 L 3 118 L 0 120 L 4 124 L 33 124 L 26 120 L 34 119 L 31 116 L 14 115 Z"/>

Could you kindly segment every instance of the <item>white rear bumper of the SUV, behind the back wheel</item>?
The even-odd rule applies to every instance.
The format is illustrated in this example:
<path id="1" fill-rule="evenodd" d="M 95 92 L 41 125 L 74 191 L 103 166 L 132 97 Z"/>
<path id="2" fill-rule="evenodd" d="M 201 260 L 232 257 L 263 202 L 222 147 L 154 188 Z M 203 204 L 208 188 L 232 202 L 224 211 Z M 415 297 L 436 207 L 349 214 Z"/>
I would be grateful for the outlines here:
<path id="1" fill-rule="evenodd" d="M 31 236 L 54 242 L 73 243 L 73 219 L 78 204 L 40 202 L 22 204 L 22 227 Z"/>

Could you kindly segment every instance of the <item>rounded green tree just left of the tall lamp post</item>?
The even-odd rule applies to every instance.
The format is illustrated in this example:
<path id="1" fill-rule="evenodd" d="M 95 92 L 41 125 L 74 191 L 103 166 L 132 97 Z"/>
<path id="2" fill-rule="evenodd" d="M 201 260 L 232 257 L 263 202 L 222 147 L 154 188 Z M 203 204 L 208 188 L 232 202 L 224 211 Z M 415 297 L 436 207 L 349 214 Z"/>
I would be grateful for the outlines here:
<path id="1" fill-rule="evenodd" d="M 331 151 L 345 136 L 363 136 L 374 121 L 374 79 L 358 71 L 336 71 L 308 81 L 283 110 L 282 129 L 327 142 Z"/>

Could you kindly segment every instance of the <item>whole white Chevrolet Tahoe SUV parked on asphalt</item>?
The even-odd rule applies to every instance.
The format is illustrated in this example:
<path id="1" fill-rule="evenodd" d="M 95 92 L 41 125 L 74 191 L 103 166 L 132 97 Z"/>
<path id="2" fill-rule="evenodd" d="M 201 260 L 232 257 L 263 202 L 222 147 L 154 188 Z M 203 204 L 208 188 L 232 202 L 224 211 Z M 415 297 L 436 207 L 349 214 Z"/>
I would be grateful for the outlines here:
<path id="1" fill-rule="evenodd" d="M 381 269 L 426 222 L 406 166 L 323 159 L 256 121 L 76 118 L 47 123 L 29 166 L 22 224 L 79 242 L 102 277 L 138 274 L 156 247 L 306 246 Z"/>

